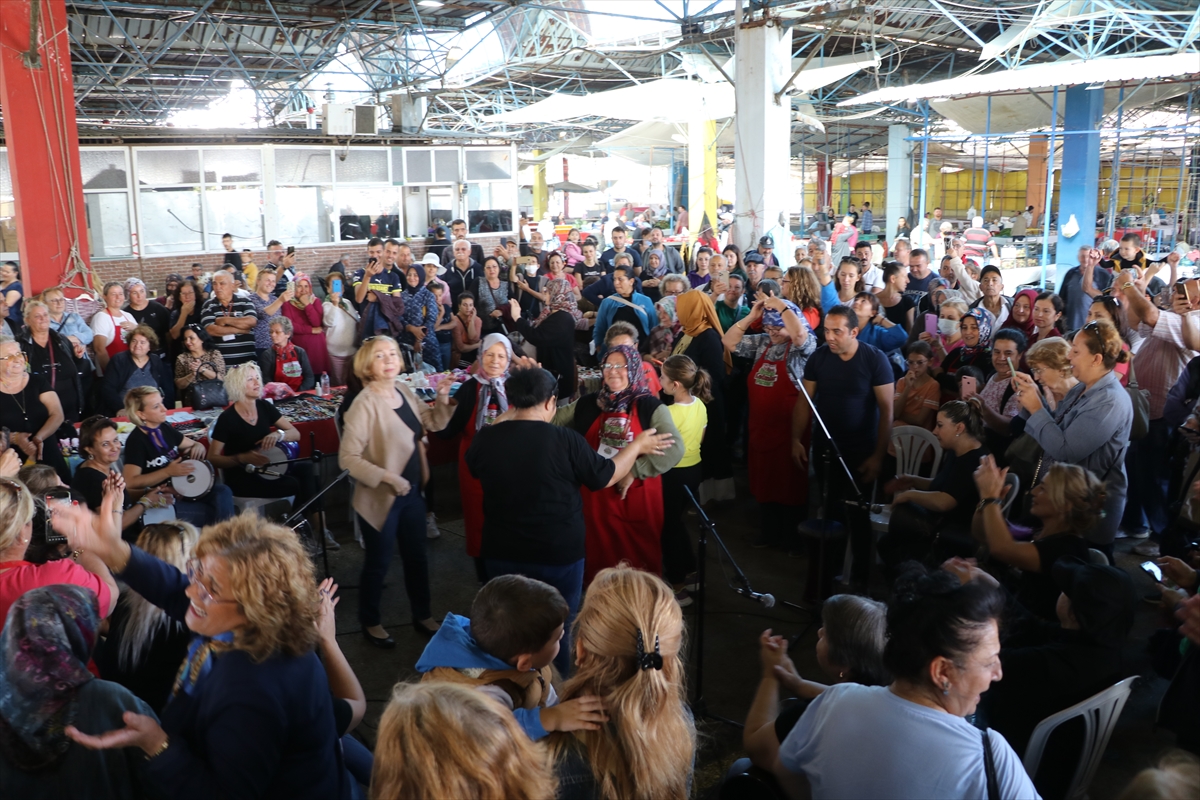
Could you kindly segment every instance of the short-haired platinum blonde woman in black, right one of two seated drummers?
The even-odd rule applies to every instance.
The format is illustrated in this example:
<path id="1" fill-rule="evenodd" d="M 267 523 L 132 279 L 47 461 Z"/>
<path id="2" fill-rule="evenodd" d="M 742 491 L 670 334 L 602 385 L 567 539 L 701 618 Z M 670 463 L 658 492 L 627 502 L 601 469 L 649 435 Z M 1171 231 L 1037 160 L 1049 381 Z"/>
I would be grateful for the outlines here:
<path id="1" fill-rule="evenodd" d="M 221 413 L 212 428 L 209 461 L 222 470 L 226 485 L 235 498 L 293 498 L 296 505 L 317 495 L 317 477 L 312 462 L 278 464 L 269 469 L 284 473 L 271 480 L 246 471 L 246 467 L 265 467 L 263 455 L 282 441 L 299 441 L 300 432 L 263 399 L 263 373 L 257 363 L 244 363 L 226 374 L 226 396 L 232 405 Z M 308 522 L 314 535 L 325 530 L 324 504 L 317 499 L 308 506 Z"/>

